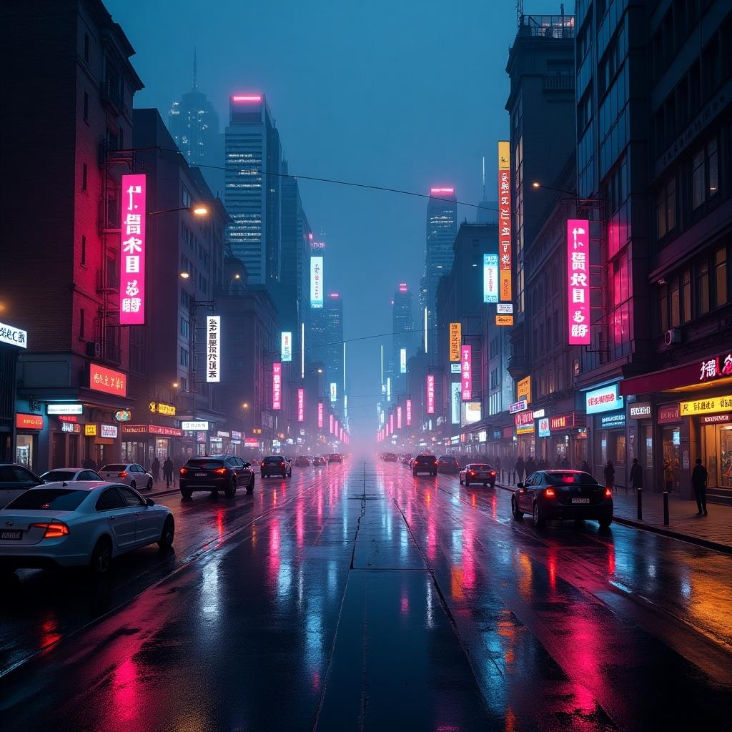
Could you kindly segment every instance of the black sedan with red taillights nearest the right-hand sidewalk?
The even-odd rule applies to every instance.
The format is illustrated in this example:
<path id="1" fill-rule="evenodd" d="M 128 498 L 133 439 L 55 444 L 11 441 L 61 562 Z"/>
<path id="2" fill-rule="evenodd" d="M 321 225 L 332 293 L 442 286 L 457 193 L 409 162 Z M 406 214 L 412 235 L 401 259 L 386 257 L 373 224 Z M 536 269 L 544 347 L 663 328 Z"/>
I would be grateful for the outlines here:
<path id="1" fill-rule="evenodd" d="M 531 514 L 534 526 L 547 520 L 597 520 L 602 529 L 613 523 L 613 491 L 580 470 L 539 470 L 518 483 L 511 511 L 520 520 Z"/>

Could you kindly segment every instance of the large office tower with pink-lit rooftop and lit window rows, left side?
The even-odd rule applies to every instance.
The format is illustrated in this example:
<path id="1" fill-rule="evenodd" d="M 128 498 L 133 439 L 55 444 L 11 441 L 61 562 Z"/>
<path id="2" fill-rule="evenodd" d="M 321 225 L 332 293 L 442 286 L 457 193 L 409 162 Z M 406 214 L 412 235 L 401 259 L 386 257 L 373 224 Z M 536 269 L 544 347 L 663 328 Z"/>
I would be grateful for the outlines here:
<path id="1" fill-rule="evenodd" d="M 227 239 L 250 284 L 280 281 L 282 146 L 264 94 L 232 94 L 225 130 Z"/>

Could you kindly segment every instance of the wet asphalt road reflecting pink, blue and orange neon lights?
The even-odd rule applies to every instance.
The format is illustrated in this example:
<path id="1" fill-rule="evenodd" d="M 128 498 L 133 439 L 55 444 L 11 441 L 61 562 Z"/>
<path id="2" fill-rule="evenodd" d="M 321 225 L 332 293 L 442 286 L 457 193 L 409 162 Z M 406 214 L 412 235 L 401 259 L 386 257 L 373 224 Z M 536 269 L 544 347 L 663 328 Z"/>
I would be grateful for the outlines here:
<path id="1" fill-rule="evenodd" d="M 0 729 L 732 729 L 732 557 L 370 460 L 160 502 L 173 555 L 4 588 Z"/>

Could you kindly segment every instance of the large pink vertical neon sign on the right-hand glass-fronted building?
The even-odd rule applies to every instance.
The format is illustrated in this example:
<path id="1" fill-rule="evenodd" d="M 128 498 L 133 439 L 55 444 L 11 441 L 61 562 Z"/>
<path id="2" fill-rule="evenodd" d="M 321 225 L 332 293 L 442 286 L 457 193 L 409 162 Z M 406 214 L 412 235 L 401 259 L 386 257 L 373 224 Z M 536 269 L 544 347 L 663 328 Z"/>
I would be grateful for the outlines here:
<path id="1" fill-rule="evenodd" d="M 570 346 L 590 343 L 589 229 L 587 219 L 567 219 L 567 343 Z"/>

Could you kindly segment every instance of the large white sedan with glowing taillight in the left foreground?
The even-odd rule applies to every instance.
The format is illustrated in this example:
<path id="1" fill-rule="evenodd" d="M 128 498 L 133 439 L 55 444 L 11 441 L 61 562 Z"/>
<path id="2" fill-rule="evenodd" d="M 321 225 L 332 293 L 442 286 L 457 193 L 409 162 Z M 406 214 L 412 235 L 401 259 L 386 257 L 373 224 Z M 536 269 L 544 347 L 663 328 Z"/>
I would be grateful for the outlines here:
<path id="1" fill-rule="evenodd" d="M 120 483 L 47 483 L 0 510 L 0 572 L 23 567 L 89 567 L 106 574 L 114 557 L 148 544 L 171 548 L 175 523 Z"/>

